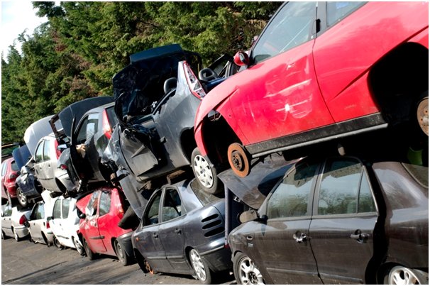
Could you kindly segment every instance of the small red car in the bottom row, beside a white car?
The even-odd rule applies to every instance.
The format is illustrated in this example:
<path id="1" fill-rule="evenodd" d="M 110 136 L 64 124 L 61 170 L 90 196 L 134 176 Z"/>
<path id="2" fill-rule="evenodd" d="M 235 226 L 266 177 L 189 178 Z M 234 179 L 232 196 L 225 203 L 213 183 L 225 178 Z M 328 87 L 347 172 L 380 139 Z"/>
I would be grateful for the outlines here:
<path id="1" fill-rule="evenodd" d="M 123 265 L 133 261 L 133 230 L 118 226 L 126 211 L 125 202 L 122 191 L 112 187 L 100 187 L 77 202 L 82 211 L 79 232 L 89 260 L 100 253 L 118 257 Z"/>

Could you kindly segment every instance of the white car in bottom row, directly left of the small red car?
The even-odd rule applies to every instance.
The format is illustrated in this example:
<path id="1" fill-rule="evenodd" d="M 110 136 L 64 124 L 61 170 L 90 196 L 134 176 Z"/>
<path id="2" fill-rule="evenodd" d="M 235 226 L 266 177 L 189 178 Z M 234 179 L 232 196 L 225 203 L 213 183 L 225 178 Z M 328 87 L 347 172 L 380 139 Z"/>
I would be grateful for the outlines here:
<path id="1" fill-rule="evenodd" d="M 79 216 L 77 214 L 77 199 L 64 197 L 50 197 L 49 191 L 42 193 L 43 200 L 49 210 L 48 221 L 54 233 L 53 243 L 57 248 L 75 248 L 80 255 L 84 255 L 84 247 L 79 239 Z M 49 206 L 49 207 L 48 207 Z"/>

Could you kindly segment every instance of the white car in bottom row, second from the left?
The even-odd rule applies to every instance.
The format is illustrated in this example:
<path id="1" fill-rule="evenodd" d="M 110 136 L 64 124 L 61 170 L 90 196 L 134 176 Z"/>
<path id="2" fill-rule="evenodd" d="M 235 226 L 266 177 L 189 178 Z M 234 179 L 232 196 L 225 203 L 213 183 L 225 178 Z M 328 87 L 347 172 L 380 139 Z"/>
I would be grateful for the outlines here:
<path id="1" fill-rule="evenodd" d="M 50 246 L 54 241 L 54 233 L 50 229 L 45 202 L 37 202 L 31 210 L 30 219 L 25 223 L 30 231 L 31 240 L 35 243 L 45 243 Z"/>

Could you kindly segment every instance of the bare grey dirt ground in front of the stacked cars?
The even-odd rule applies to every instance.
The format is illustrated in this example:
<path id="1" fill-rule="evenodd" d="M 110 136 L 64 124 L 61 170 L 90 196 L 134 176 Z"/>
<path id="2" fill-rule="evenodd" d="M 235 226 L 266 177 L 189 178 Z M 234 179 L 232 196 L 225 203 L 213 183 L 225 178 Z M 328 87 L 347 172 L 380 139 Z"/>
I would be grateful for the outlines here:
<path id="1" fill-rule="evenodd" d="M 233 275 L 216 274 L 219 284 L 236 284 Z M 88 260 L 75 249 L 59 250 L 28 239 L 1 241 L 1 284 L 200 284 L 189 275 L 145 274 L 135 263 L 123 266 L 113 257 Z"/>

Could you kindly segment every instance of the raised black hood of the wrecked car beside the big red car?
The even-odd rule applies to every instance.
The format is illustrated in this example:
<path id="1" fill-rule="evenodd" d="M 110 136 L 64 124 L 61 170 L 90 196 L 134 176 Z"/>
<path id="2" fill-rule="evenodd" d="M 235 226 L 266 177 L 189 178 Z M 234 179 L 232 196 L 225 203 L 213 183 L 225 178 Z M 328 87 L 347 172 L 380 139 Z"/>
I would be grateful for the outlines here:
<path id="1" fill-rule="evenodd" d="M 202 64 L 197 53 L 184 51 L 177 44 L 131 55 L 131 64 L 112 79 L 118 119 L 124 122 L 126 116 L 150 114 L 150 105 L 164 96 L 163 84 L 166 79 L 177 77 L 177 64 L 182 60 L 187 60 L 192 68 Z"/>

